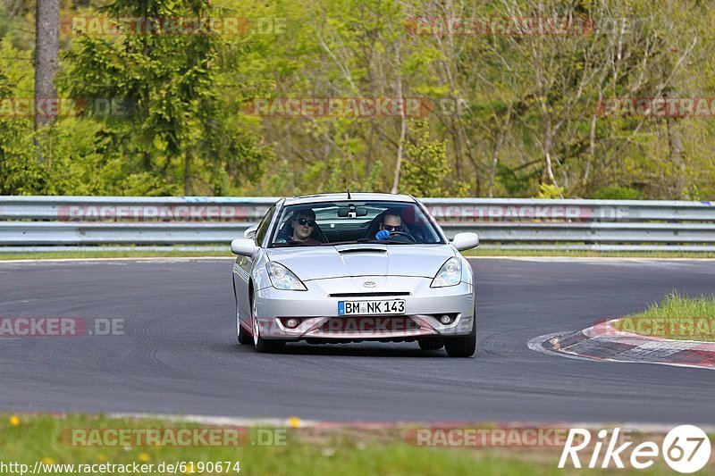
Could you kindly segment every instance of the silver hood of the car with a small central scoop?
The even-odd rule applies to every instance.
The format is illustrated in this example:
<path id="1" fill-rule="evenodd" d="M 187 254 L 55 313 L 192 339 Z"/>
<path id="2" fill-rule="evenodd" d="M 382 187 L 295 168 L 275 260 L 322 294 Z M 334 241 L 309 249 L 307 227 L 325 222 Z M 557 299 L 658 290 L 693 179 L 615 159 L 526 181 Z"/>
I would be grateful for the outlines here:
<path id="1" fill-rule="evenodd" d="M 303 281 L 343 276 L 433 278 L 455 253 L 451 245 L 357 244 L 270 248 L 268 258 Z"/>

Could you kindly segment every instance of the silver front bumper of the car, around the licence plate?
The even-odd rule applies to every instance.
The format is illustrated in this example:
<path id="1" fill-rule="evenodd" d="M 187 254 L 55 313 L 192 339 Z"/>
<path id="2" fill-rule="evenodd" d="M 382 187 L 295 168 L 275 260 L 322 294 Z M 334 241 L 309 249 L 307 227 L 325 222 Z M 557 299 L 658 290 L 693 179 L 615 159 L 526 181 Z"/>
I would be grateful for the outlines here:
<path id="1" fill-rule="evenodd" d="M 375 287 L 364 288 L 365 281 Z M 431 278 L 360 276 L 307 281 L 307 291 L 260 289 L 255 296 L 260 334 L 265 339 L 338 342 L 469 334 L 475 319 L 472 285 L 430 288 L 431 283 Z M 391 299 L 404 299 L 404 314 L 338 315 L 339 301 Z M 438 316 L 443 314 L 451 314 L 453 322 L 442 324 Z M 287 327 L 287 318 L 296 318 L 299 325 Z"/>

